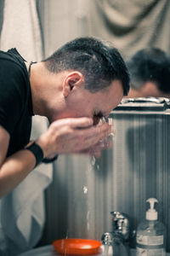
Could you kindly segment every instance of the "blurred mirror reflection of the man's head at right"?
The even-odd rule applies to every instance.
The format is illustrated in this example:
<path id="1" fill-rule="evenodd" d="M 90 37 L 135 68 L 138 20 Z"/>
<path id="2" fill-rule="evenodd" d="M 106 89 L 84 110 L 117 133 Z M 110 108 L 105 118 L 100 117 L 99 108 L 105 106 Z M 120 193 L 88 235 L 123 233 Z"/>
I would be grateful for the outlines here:
<path id="1" fill-rule="evenodd" d="M 170 59 L 161 49 L 141 49 L 127 61 L 131 89 L 127 97 L 170 97 Z"/>

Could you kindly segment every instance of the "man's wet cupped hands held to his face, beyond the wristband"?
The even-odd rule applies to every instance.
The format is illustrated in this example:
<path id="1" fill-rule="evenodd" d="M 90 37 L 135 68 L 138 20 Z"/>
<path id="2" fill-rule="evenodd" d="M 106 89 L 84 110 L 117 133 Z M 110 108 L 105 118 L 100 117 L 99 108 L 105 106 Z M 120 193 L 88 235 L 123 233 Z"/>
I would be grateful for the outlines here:
<path id="1" fill-rule="evenodd" d="M 59 119 L 37 139 L 37 143 L 48 158 L 56 154 L 78 153 L 93 148 L 111 133 L 111 125 L 93 124 L 94 121 L 90 118 Z"/>

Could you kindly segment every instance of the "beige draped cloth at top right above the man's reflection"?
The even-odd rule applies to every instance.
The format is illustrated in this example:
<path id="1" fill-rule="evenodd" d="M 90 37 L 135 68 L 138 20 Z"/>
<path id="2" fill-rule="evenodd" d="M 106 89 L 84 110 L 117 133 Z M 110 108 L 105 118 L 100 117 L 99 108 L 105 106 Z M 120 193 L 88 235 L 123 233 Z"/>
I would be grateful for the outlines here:
<path id="1" fill-rule="evenodd" d="M 168 0 L 93 0 L 89 34 L 111 41 L 125 58 L 147 46 L 170 52 Z"/>

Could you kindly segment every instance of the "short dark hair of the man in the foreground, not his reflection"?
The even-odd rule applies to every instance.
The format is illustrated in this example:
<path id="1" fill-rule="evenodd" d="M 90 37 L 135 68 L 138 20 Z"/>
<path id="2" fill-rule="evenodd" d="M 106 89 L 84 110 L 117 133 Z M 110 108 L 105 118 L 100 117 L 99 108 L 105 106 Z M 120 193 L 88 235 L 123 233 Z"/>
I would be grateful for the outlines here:
<path id="1" fill-rule="evenodd" d="M 80 71 L 85 88 L 93 93 L 111 85 L 114 79 L 121 80 L 123 94 L 128 93 L 129 74 L 122 56 L 116 48 L 97 38 L 76 38 L 43 61 L 52 73 Z"/>

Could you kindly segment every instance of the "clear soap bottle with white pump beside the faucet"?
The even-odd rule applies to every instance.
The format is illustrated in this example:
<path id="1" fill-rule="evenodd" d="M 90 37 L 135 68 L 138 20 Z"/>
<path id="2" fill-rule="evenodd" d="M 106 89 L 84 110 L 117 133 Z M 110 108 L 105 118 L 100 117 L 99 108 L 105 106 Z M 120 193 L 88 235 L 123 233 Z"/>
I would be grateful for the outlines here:
<path id="1" fill-rule="evenodd" d="M 150 208 L 146 217 L 137 227 L 136 249 L 138 256 L 166 256 L 166 230 L 164 224 L 157 220 L 154 208 L 156 198 L 149 198 Z"/>

